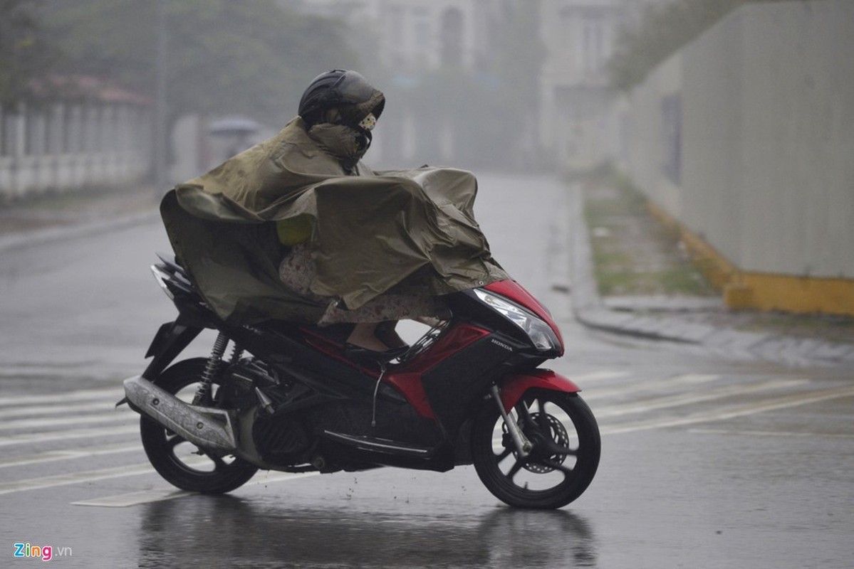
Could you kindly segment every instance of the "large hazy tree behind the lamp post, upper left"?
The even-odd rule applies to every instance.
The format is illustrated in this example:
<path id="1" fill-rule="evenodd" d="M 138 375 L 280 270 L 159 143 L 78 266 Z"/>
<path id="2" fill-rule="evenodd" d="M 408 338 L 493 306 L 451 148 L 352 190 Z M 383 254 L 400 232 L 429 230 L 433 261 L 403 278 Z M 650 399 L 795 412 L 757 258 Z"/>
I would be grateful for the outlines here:
<path id="1" fill-rule="evenodd" d="M 67 55 L 67 73 L 108 78 L 152 95 L 157 3 L 63 0 L 46 24 Z M 168 0 L 170 115 L 245 113 L 280 123 L 301 90 L 330 67 L 354 65 L 342 24 L 296 15 L 272 0 Z"/>

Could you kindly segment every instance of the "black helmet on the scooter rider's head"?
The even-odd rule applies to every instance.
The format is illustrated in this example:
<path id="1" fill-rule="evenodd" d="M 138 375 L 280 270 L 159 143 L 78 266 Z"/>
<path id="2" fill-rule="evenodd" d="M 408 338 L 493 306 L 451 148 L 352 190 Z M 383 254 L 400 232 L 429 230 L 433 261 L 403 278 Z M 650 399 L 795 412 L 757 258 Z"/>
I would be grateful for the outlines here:
<path id="1" fill-rule="evenodd" d="M 308 125 L 319 122 L 323 112 L 333 107 L 346 109 L 358 123 L 368 113 L 378 119 L 383 113 L 383 93 L 367 82 L 360 73 L 333 69 L 313 79 L 300 99 L 300 116 Z"/>

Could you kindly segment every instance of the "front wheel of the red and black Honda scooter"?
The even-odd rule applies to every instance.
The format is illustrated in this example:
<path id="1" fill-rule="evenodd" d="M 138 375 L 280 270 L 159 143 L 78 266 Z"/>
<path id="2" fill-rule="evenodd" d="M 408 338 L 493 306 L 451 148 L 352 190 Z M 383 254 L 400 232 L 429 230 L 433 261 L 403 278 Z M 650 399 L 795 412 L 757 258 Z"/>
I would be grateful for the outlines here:
<path id="1" fill-rule="evenodd" d="M 531 443 L 516 448 L 492 398 L 471 431 L 471 456 L 488 491 L 517 508 L 561 508 L 587 490 L 600 458 L 593 413 L 575 393 L 532 389 L 510 413 Z"/>

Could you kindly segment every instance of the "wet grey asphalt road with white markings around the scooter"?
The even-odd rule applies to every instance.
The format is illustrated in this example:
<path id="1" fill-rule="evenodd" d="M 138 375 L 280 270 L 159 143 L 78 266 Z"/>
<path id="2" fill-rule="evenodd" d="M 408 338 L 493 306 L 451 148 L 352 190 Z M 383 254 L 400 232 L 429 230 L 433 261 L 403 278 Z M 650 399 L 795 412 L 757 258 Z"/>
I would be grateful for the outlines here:
<path id="1" fill-rule="evenodd" d="M 476 212 L 495 256 L 557 316 L 567 354 L 553 368 L 600 421 L 600 470 L 576 502 L 512 510 L 470 467 L 174 491 L 135 415 L 113 409 L 173 316 L 148 271 L 167 240 L 143 225 L 0 255 L 0 566 L 34 561 L 15 543 L 69 567 L 854 566 L 854 372 L 579 327 L 553 288 L 567 279 L 561 191 L 483 176 Z"/>

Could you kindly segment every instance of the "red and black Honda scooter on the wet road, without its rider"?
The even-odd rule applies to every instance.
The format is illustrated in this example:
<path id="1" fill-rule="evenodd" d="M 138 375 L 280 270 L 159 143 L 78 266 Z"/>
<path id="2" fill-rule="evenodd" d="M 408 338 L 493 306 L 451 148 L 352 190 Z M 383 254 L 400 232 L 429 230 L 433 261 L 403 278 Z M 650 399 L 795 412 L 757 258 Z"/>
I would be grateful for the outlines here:
<path id="1" fill-rule="evenodd" d="M 223 493 L 259 469 L 473 464 L 503 502 L 561 508 L 593 480 L 599 427 L 576 384 L 539 367 L 563 355 L 563 339 L 517 282 L 453 293 L 451 316 L 405 353 L 353 361 L 346 325 L 225 322 L 174 258 L 158 256 L 151 270 L 178 316 L 119 404 L 141 415 L 145 453 L 172 485 Z M 218 333 L 210 356 L 173 363 L 206 328 Z"/>

